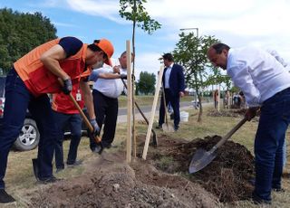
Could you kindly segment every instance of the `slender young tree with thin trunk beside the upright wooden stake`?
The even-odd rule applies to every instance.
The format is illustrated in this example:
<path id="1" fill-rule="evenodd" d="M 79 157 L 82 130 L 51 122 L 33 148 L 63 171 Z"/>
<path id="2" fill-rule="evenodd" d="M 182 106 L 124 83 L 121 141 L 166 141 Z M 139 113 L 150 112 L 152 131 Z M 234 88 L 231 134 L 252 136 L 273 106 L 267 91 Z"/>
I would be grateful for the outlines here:
<path id="1" fill-rule="evenodd" d="M 144 32 L 149 34 L 153 33 L 155 30 L 161 27 L 161 24 L 155 21 L 150 17 L 150 15 L 146 12 L 145 7 L 143 4 L 147 3 L 146 0 L 120 0 L 121 9 L 119 10 L 119 14 L 121 18 L 125 18 L 126 20 L 132 21 L 133 28 L 132 28 L 132 47 L 133 53 L 136 57 L 136 50 L 135 50 L 135 29 L 136 24 L 140 27 Z M 132 77 L 135 77 L 135 59 L 133 60 L 133 69 L 132 69 Z M 135 81 L 132 81 L 132 88 L 134 89 Z M 134 90 L 132 90 L 132 102 L 134 103 Z M 133 128 L 132 128 L 132 136 L 133 141 L 136 142 L 136 135 L 135 135 L 135 109 L 133 105 Z M 134 155 L 136 156 L 136 143 L 134 146 Z"/>

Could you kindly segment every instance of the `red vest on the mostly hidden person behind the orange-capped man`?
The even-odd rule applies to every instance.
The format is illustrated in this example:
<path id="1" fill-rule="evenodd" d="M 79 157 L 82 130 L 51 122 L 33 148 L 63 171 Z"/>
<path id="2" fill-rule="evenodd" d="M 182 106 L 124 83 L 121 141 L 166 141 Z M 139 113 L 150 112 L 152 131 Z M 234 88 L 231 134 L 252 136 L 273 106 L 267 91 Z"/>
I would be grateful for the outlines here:
<path id="1" fill-rule="evenodd" d="M 77 99 L 77 93 L 81 93 L 81 100 L 77 100 L 79 106 L 81 109 L 83 109 L 84 101 L 83 101 L 83 95 L 82 91 L 80 90 L 80 83 L 75 82 L 73 83 L 73 90 L 72 95 L 74 99 Z M 73 101 L 70 99 L 70 97 L 63 92 L 53 94 L 53 104 L 52 109 L 66 114 L 76 114 L 80 113 L 79 110 L 74 106 Z"/>

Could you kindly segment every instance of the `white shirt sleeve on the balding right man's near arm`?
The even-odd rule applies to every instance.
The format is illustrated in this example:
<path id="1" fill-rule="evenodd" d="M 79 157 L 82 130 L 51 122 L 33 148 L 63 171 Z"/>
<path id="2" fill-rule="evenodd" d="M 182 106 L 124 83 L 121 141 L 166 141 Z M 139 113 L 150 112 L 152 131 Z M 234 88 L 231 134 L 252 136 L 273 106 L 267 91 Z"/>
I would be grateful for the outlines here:
<path id="1" fill-rule="evenodd" d="M 235 86 L 244 92 L 248 107 L 258 107 L 261 105 L 260 92 L 256 88 L 246 65 L 234 65 L 227 69 L 227 74 L 232 78 Z"/>

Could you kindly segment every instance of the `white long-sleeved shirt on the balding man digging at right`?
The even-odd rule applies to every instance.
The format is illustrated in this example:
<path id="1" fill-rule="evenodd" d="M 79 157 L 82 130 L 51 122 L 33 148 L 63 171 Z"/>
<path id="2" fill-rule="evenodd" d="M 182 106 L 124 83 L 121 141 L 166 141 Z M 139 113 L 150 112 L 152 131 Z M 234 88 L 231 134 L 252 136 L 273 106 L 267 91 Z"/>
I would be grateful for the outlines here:
<path id="1" fill-rule="evenodd" d="M 290 73 L 269 52 L 254 47 L 230 49 L 227 74 L 244 92 L 247 105 L 256 107 L 290 87 Z"/>

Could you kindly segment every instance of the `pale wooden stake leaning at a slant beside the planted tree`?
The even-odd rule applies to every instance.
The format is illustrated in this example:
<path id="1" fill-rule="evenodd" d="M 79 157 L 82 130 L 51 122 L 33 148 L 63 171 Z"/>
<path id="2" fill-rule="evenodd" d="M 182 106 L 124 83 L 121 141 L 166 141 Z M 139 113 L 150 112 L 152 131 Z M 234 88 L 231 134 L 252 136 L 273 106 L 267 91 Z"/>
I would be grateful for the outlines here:
<path id="1" fill-rule="evenodd" d="M 145 145 L 144 145 L 144 149 L 143 149 L 142 158 L 145 160 L 146 160 L 147 151 L 148 151 L 148 147 L 149 147 L 151 130 L 152 130 L 152 126 L 153 126 L 153 122 L 154 122 L 154 118 L 155 118 L 156 106 L 157 106 L 158 98 L 160 95 L 160 87 L 161 87 L 161 82 L 162 82 L 163 71 L 164 71 L 164 67 L 160 66 L 160 75 L 159 75 L 159 79 L 158 79 L 156 90 L 155 90 L 150 121 L 149 121 L 148 129 L 147 129 L 147 135 L 146 135 Z"/>

